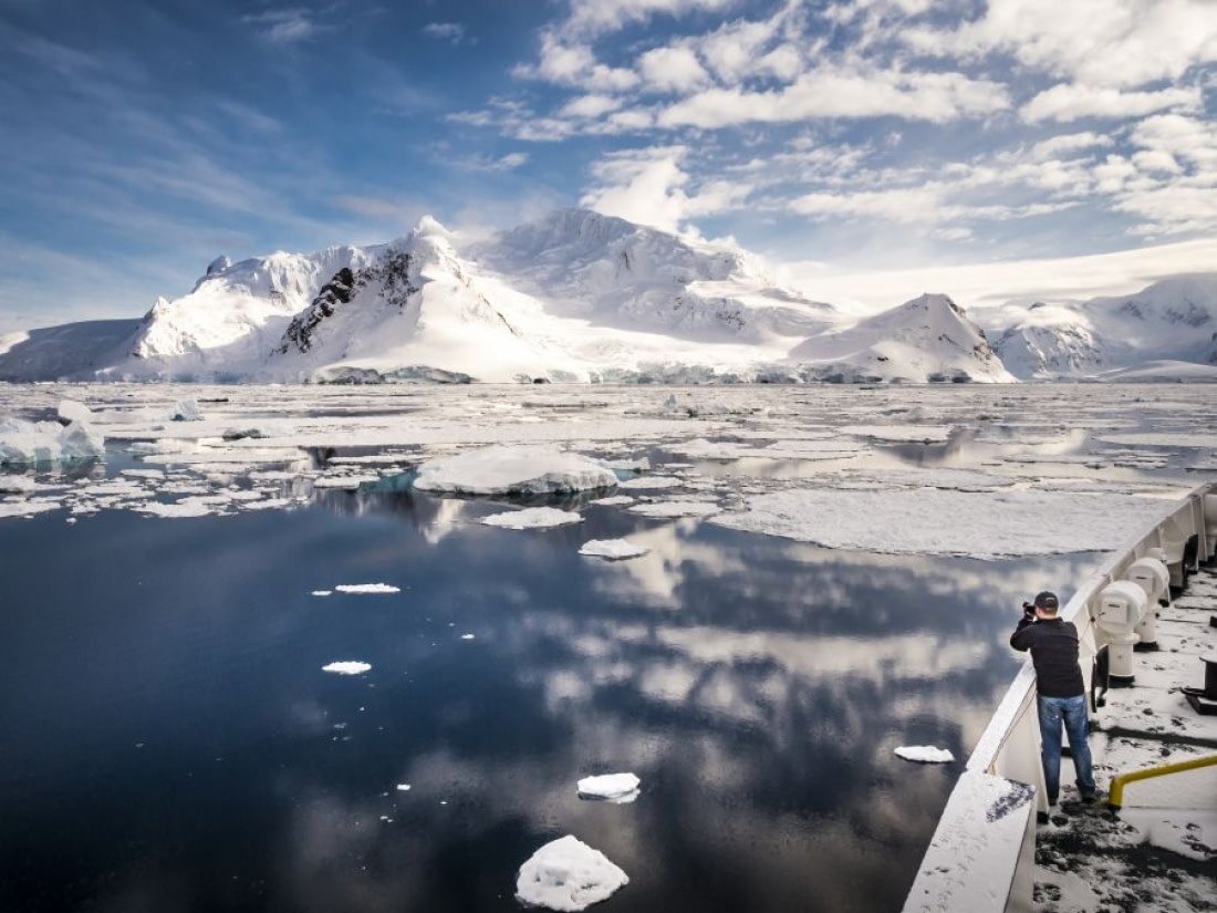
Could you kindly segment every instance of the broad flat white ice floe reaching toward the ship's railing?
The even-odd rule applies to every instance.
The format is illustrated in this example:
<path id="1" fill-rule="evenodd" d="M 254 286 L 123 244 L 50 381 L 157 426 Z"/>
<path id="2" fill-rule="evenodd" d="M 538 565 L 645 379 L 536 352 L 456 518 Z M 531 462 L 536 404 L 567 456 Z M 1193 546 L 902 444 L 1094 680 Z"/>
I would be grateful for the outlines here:
<path id="1" fill-rule="evenodd" d="M 1065 492 L 800 488 L 752 495 L 746 505 L 710 522 L 825 548 L 1008 558 L 1117 549 L 1166 502 Z"/>

